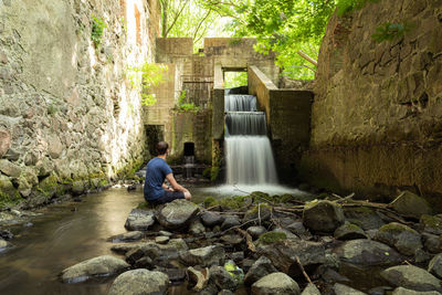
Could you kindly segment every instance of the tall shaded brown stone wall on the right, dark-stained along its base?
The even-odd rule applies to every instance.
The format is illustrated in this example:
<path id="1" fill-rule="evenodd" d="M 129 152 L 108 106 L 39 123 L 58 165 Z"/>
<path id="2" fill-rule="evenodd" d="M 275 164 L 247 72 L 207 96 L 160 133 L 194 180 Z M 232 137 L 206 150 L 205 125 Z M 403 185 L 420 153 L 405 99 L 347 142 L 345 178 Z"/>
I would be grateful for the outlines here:
<path id="1" fill-rule="evenodd" d="M 386 22 L 409 30 L 376 42 L 371 35 Z M 332 18 L 318 60 L 306 179 L 372 199 L 392 198 L 398 188 L 433 201 L 442 194 L 441 39 L 441 1 L 382 0 Z"/>

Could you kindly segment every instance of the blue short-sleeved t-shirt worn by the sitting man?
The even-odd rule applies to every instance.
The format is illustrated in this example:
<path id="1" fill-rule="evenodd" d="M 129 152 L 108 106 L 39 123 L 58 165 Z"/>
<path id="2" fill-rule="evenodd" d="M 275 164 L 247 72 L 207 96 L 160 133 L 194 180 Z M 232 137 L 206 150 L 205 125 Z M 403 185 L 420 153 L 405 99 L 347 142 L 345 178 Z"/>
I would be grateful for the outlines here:
<path id="1" fill-rule="evenodd" d="M 169 165 L 161 158 L 151 159 L 146 167 L 146 180 L 145 180 L 145 199 L 157 200 L 165 196 L 165 189 L 162 183 L 165 182 L 166 176 L 171 173 Z"/>

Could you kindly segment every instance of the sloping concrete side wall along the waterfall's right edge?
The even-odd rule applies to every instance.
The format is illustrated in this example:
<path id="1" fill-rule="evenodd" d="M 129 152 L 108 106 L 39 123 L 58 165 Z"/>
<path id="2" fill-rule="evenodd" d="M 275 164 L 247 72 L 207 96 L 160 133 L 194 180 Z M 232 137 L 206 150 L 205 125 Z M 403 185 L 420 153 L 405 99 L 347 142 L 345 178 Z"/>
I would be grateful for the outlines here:
<path id="1" fill-rule="evenodd" d="M 266 114 L 280 179 L 293 180 L 308 147 L 313 93 L 278 89 L 256 66 L 249 67 L 248 82 L 249 93 L 256 95 L 259 108 Z"/>

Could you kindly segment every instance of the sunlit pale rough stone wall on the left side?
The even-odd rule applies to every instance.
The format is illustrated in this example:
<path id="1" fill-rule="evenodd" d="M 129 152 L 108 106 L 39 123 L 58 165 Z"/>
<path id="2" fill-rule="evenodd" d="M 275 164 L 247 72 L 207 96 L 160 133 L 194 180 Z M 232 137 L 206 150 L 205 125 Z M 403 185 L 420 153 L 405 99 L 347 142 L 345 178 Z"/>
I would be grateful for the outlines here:
<path id="1" fill-rule="evenodd" d="M 158 31 L 157 1 L 0 2 L 0 206 L 82 193 L 143 164 L 127 67 L 152 61 Z"/>

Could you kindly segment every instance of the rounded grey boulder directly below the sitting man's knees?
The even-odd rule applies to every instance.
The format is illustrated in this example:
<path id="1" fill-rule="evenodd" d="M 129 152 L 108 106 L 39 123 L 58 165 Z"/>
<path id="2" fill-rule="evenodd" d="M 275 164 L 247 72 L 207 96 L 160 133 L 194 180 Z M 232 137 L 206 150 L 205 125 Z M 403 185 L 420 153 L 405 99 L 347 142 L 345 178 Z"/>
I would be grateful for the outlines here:
<path id="1" fill-rule="evenodd" d="M 198 207 L 185 199 L 166 203 L 157 211 L 158 222 L 166 229 L 176 230 L 187 226 L 198 213 Z"/>

